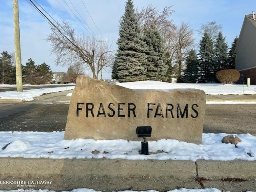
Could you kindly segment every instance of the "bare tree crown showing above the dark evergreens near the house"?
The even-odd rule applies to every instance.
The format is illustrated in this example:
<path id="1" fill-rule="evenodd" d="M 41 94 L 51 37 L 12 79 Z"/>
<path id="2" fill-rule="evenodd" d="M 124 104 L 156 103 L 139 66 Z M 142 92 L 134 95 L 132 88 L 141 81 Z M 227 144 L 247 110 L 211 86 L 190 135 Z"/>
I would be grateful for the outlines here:
<path id="1" fill-rule="evenodd" d="M 208 33 L 211 40 L 215 40 L 218 36 L 218 33 L 222 30 L 222 26 L 218 25 L 216 21 L 206 22 L 206 24 L 202 24 L 201 28 L 197 30 L 200 35 L 204 35 L 204 33 Z"/>

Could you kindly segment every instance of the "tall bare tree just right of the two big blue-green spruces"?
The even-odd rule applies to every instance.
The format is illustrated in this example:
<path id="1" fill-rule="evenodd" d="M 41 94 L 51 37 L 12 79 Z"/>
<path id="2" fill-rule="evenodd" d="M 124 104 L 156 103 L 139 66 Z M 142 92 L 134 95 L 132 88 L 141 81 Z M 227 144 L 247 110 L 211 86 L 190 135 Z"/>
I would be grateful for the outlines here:
<path id="1" fill-rule="evenodd" d="M 178 65 L 178 78 L 181 77 L 182 65 L 188 56 L 189 51 L 194 48 L 195 39 L 193 38 L 193 30 L 189 23 L 182 22 L 176 33 L 176 43 L 174 57 Z"/>

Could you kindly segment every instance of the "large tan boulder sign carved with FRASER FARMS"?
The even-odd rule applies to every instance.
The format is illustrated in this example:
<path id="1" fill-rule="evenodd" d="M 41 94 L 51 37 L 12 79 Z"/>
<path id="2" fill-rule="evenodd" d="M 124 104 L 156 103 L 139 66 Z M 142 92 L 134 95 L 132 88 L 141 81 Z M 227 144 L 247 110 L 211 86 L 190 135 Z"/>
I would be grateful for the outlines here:
<path id="1" fill-rule="evenodd" d="M 79 76 L 68 110 L 65 139 L 141 140 L 136 127 L 152 126 L 152 136 L 147 140 L 199 144 L 205 106 L 202 90 L 131 90 Z"/>

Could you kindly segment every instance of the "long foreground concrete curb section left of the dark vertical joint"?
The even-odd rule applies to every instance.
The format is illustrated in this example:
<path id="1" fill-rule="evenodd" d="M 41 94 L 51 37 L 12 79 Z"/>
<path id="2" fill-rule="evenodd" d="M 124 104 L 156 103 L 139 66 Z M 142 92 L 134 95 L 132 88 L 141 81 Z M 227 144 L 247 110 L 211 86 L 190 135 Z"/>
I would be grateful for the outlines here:
<path id="1" fill-rule="evenodd" d="M 167 191 L 180 187 L 200 188 L 195 177 L 195 163 L 182 160 L 0 158 L 0 181 L 52 181 L 52 184 L 39 184 L 33 189 Z M 0 189 L 13 190 L 17 186 L 0 184 Z"/>

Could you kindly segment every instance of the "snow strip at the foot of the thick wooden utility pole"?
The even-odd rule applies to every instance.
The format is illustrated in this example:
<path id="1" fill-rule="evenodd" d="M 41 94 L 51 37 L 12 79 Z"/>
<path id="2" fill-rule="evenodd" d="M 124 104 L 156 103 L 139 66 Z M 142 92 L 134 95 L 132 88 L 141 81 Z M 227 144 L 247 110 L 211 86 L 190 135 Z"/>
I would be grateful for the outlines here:
<path id="1" fill-rule="evenodd" d="M 54 88 L 23 90 L 23 92 L 5 91 L 5 92 L 0 92 L 0 99 L 20 99 L 25 101 L 31 101 L 34 99 L 34 97 L 40 96 L 42 94 L 66 91 L 74 88 L 75 86 L 64 86 L 64 87 L 54 87 Z"/>

